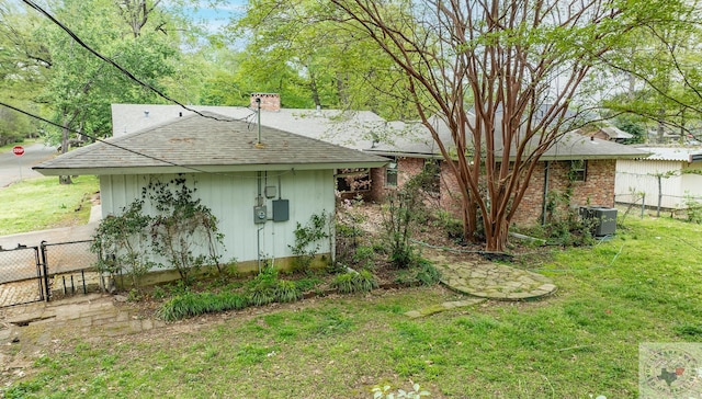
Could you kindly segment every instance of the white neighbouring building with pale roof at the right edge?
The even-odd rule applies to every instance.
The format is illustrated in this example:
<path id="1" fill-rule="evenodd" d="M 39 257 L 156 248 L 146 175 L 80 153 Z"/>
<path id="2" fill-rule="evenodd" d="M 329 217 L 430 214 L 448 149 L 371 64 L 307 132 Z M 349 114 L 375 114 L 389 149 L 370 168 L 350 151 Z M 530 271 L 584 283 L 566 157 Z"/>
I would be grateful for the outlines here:
<path id="1" fill-rule="evenodd" d="M 639 147 L 649 157 L 621 160 L 616 164 L 616 202 L 682 208 L 686 197 L 702 201 L 702 149 Z M 642 194 L 645 195 L 642 198 Z"/>

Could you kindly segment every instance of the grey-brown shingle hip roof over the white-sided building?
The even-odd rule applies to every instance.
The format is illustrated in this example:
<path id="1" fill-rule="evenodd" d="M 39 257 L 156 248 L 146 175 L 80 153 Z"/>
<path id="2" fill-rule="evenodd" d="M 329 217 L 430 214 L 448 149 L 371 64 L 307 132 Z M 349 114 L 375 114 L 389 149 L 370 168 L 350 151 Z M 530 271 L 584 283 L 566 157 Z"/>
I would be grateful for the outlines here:
<path id="1" fill-rule="evenodd" d="M 126 174 L 369 168 L 386 159 L 204 112 L 72 150 L 34 169 L 43 174 Z"/>

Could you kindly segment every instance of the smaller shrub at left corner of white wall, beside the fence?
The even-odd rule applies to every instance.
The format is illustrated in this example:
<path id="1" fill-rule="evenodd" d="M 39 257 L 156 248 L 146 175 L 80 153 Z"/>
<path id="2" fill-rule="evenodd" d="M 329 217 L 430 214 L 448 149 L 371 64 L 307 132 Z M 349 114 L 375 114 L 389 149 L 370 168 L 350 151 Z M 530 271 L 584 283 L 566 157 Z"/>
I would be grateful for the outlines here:
<path id="1" fill-rule="evenodd" d="M 149 260 L 144 248 L 147 227 L 151 219 L 144 215 L 144 201 L 135 200 L 122 208 L 120 215 L 104 217 L 95 233 L 90 250 L 97 253 L 98 270 L 112 277 L 126 271 L 132 287 L 139 287 L 139 280 L 155 263 Z"/>

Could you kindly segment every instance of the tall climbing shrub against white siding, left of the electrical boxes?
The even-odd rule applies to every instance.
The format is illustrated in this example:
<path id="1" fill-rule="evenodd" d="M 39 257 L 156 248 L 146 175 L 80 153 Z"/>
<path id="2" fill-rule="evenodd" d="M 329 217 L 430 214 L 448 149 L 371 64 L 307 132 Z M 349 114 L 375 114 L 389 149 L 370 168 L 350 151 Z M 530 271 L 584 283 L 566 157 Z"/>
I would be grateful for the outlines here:
<path id="1" fill-rule="evenodd" d="M 190 273 L 203 265 L 216 265 L 222 273 L 222 255 L 218 253 L 224 236 L 217 227 L 217 218 L 193 194 L 184 178 L 176 178 L 163 183 L 152 180 L 141 191 L 154 207 L 149 235 L 151 250 L 163 256 L 174 267 L 181 278 L 189 282 Z M 206 253 L 196 253 L 200 248 Z"/>

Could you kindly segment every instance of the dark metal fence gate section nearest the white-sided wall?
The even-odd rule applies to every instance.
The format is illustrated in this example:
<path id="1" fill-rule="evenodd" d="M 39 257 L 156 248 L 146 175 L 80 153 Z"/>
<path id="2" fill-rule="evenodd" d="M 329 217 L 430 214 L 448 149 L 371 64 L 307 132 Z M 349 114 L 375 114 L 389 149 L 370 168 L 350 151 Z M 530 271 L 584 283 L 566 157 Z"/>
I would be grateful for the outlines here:
<path id="1" fill-rule="evenodd" d="M 46 297 L 98 292 L 104 286 L 95 267 L 98 255 L 90 251 L 92 240 L 41 244 L 46 275 Z"/>

